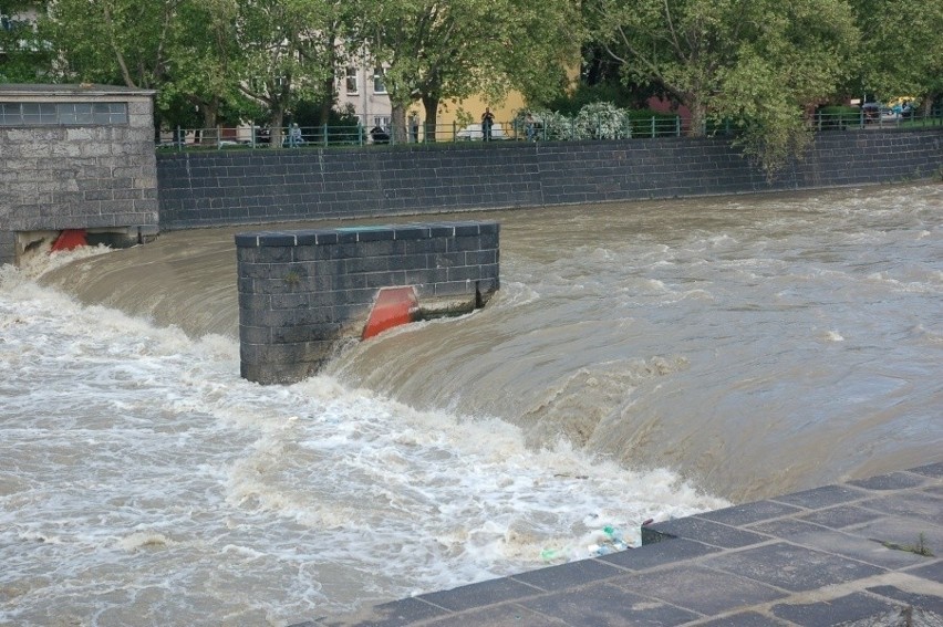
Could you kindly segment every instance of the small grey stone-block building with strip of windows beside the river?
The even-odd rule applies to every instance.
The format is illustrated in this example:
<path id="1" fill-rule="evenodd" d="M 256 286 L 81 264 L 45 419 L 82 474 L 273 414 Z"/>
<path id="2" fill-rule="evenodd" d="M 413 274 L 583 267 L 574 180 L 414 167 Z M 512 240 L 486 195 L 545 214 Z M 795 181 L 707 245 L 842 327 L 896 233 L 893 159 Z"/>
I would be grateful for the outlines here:
<path id="1" fill-rule="evenodd" d="M 0 84 L 0 264 L 62 231 L 118 247 L 157 234 L 153 95 Z"/>

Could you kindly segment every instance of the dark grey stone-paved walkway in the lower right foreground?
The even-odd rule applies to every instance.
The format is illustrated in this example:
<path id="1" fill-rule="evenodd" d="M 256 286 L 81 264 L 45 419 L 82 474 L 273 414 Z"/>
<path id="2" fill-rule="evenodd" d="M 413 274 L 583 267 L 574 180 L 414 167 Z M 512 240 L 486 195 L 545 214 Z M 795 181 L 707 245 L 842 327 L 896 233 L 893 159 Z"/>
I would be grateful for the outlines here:
<path id="1" fill-rule="evenodd" d="M 642 542 L 296 627 L 943 627 L 943 462 L 653 524 Z"/>

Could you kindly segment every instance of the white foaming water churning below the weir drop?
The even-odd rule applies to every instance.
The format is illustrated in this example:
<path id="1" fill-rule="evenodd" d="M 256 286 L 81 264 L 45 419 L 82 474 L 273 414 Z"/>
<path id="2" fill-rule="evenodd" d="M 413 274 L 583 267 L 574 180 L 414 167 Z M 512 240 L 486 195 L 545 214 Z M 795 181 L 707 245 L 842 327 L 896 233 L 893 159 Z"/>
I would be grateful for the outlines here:
<path id="1" fill-rule="evenodd" d="M 56 263 L 52 260 L 52 263 Z M 0 625 L 284 625 L 587 557 L 723 506 L 669 471 L 329 377 L 259 386 L 0 268 Z"/>

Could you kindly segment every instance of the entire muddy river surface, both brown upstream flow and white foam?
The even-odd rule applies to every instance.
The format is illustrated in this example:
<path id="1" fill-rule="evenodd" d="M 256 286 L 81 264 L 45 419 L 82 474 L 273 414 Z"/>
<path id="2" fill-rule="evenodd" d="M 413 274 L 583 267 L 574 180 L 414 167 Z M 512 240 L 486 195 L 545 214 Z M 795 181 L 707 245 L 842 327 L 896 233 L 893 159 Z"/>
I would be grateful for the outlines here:
<path id="1" fill-rule="evenodd" d="M 480 216 L 488 307 L 287 387 L 235 230 L 0 270 L 0 625 L 284 625 L 940 461 L 943 186 Z"/>

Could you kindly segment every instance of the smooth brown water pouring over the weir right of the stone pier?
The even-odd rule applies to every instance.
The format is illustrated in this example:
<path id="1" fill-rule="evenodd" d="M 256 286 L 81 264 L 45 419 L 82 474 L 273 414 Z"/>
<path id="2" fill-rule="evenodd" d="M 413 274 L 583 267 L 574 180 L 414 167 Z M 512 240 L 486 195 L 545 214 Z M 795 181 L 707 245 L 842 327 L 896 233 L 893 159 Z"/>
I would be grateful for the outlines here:
<path id="1" fill-rule="evenodd" d="M 940 460 L 943 186 L 490 217 L 488 307 L 330 372 L 736 502 Z"/>

